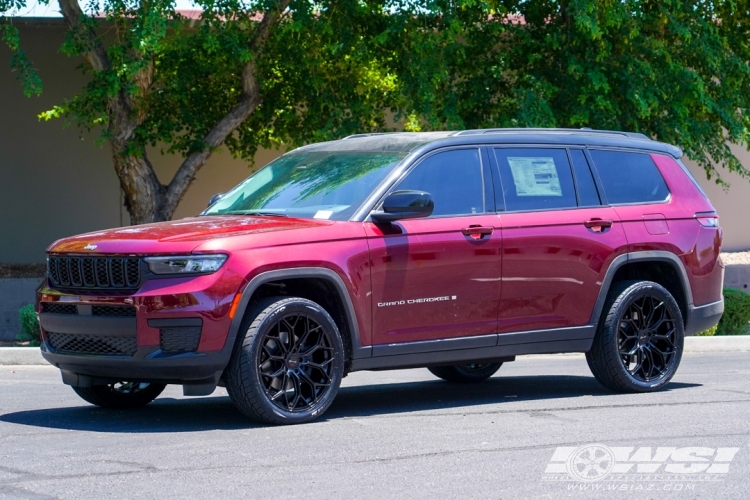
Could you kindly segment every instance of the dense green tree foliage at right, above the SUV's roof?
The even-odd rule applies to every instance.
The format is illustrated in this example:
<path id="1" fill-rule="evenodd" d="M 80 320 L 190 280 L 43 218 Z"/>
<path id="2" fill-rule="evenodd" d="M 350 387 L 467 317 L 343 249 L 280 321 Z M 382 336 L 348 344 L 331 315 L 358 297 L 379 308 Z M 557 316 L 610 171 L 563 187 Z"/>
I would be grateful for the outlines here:
<path id="1" fill-rule="evenodd" d="M 592 127 L 750 171 L 750 6 L 707 0 L 437 0 L 384 39 L 412 129 Z M 440 13 L 440 15 L 436 15 Z"/>

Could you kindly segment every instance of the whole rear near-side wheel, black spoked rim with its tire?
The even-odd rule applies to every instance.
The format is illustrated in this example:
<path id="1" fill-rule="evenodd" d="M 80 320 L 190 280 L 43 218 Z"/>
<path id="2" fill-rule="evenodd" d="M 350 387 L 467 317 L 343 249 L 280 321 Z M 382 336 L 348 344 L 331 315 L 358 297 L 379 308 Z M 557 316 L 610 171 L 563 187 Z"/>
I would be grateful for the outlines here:
<path id="1" fill-rule="evenodd" d="M 610 292 L 591 350 L 591 373 L 618 392 L 653 392 L 677 371 L 685 342 L 674 297 L 651 281 L 625 281 Z"/>

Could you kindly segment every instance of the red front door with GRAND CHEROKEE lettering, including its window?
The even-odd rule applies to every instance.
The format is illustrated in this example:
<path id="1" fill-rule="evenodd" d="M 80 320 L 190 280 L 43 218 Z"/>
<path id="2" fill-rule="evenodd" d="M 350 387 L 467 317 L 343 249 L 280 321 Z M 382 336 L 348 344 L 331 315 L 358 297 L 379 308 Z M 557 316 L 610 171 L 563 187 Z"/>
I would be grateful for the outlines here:
<path id="1" fill-rule="evenodd" d="M 432 194 L 432 216 L 365 223 L 372 266 L 373 344 L 492 334 L 501 234 L 479 148 L 438 152 L 394 190 Z"/>

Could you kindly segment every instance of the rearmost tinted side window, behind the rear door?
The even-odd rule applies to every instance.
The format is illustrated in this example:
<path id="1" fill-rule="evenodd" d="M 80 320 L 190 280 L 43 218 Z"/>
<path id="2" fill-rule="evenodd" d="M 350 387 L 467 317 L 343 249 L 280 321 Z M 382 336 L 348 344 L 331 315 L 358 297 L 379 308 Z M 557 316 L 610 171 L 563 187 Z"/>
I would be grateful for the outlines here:
<path id="1" fill-rule="evenodd" d="M 664 178 L 649 155 L 596 150 L 590 153 L 609 203 L 648 203 L 664 201 L 669 196 Z"/>

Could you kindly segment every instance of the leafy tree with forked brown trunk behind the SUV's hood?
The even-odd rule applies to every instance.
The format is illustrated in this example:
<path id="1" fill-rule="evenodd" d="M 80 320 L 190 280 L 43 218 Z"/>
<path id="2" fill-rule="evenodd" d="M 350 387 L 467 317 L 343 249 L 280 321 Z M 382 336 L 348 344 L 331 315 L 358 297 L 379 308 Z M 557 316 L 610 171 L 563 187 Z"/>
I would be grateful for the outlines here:
<path id="1" fill-rule="evenodd" d="M 24 1 L 0 0 L 0 12 Z M 101 128 L 134 224 L 169 220 L 223 144 L 252 158 L 259 146 L 385 126 L 391 84 L 367 57 L 369 33 L 346 22 L 372 16 L 367 6 L 198 0 L 203 13 L 191 28 L 173 0 L 104 0 L 86 12 L 78 0 L 58 1 L 69 28 L 63 52 L 81 56 L 91 79 L 41 118 Z M 1 28 L 24 91 L 39 94 L 18 31 L 11 23 Z M 182 154 L 167 185 L 149 161 L 149 145 Z"/>

